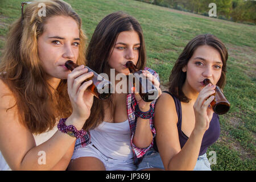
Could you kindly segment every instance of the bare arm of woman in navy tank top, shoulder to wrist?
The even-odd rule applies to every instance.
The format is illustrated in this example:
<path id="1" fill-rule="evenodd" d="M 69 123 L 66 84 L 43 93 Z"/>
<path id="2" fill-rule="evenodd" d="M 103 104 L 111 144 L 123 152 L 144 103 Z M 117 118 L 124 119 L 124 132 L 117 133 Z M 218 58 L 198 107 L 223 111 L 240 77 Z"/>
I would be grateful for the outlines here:
<path id="1" fill-rule="evenodd" d="M 183 148 L 180 148 L 176 107 L 169 94 L 163 93 L 156 103 L 155 128 L 156 143 L 164 168 L 167 170 L 193 170 L 205 131 L 195 127 Z"/>

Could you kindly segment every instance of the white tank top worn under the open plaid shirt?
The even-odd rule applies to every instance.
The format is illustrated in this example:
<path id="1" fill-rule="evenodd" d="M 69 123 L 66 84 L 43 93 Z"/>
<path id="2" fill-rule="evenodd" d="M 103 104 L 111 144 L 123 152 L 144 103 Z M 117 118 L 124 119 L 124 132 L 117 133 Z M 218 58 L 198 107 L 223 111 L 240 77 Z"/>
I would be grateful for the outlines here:
<path id="1" fill-rule="evenodd" d="M 102 122 L 90 130 L 91 141 L 102 154 L 113 159 L 133 158 L 131 134 L 128 119 L 121 123 Z"/>

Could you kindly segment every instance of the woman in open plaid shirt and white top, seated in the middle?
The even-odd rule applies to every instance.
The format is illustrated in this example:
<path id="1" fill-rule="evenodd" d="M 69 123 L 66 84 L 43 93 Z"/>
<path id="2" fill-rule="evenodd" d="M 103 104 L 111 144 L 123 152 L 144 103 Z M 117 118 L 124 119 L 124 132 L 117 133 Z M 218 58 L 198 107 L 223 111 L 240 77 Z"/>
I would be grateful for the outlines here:
<path id="1" fill-rule="evenodd" d="M 141 25 L 133 16 L 112 13 L 98 23 L 86 51 L 88 67 L 111 76 L 129 75 L 127 61 L 132 61 L 159 89 L 158 75 L 146 68 L 146 51 Z M 110 78 L 112 80 L 112 78 Z M 115 79 L 114 79 L 115 80 Z M 124 80 L 115 80 L 115 85 Z M 128 83 L 128 82 L 127 82 Z M 145 102 L 138 93 L 115 92 L 106 101 L 94 98 L 84 138 L 77 139 L 68 169 L 71 170 L 135 170 L 138 159 L 152 147 L 155 129 L 151 117 L 154 102 Z M 136 115 L 137 110 L 142 115 Z M 152 109 L 151 109 L 152 108 Z M 137 113 L 138 114 L 138 113 Z"/>

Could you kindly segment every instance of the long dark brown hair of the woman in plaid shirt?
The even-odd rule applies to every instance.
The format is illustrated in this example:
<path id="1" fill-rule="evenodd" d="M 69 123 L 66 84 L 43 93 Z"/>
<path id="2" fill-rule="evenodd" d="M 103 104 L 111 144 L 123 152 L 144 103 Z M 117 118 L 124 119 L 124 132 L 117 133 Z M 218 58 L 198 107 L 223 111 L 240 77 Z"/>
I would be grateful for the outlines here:
<path id="1" fill-rule="evenodd" d="M 86 64 L 97 73 L 106 73 L 110 78 L 110 66 L 108 64 L 112 48 L 117 40 L 119 33 L 134 30 L 138 33 L 141 47 L 137 67 L 144 69 L 146 65 L 146 50 L 141 25 L 133 16 L 118 11 L 107 15 L 98 23 L 93 33 L 92 39 L 86 51 Z M 113 96 L 113 95 L 112 95 Z M 104 119 L 103 102 L 108 102 L 113 115 L 113 97 L 107 101 L 101 101 L 94 97 L 90 117 L 85 122 L 84 130 L 88 131 L 97 127 Z"/>

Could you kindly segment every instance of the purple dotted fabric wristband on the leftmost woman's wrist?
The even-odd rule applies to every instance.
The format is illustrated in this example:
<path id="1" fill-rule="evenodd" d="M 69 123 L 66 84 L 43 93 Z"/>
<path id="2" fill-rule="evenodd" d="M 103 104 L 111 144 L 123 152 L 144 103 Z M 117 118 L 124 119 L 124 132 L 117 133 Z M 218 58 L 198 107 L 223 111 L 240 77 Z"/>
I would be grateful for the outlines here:
<path id="1" fill-rule="evenodd" d="M 86 131 L 84 131 L 84 130 L 78 131 L 76 129 L 76 127 L 73 125 L 67 126 L 65 124 L 66 120 L 67 120 L 67 118 L 61 118 L 57 125 L 58 129 L 62 133 L 67 133 L 69 136 L 76 137 L 76 138 L 82 138 L 82 137 L 84 137 L 84 135 L 86 135 Z"/>

